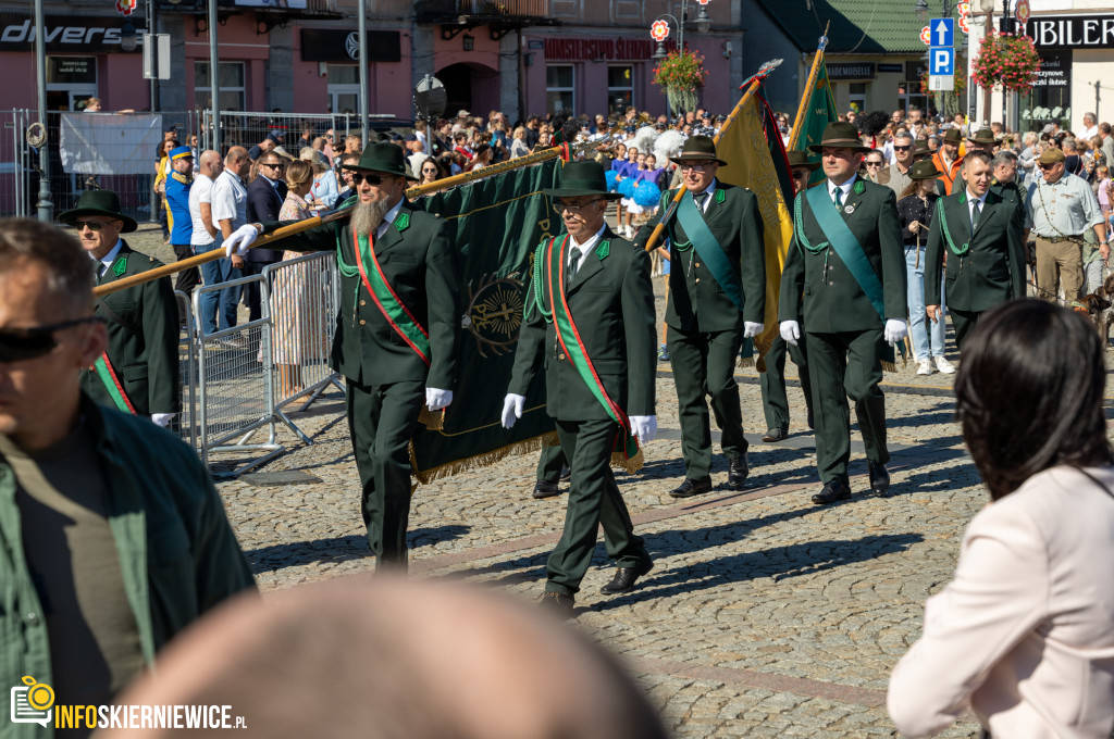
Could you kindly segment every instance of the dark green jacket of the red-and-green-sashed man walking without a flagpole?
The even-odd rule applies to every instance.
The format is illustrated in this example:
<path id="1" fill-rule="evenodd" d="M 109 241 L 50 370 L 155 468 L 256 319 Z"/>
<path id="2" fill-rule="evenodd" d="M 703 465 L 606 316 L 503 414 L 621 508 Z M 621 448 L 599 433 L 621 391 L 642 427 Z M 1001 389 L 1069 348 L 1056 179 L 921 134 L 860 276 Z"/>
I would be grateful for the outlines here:
<path id="1" fill-rule="evenodd" d="M 565 237 L 566 234 L 557 237 L 555 249 Z M 546 313 L 553 309 L 548 279 L 549 268 L 544 265 Z M 568 289 L 568 308 L 608 396 L 628 415 L 654 415 L 657 336 L 649 255 L 645 249 L 605 228 L 595 252 L 588 255 Z M 607 411 L 560 349 L 553 323 L 537 309 L 532 280 L 526 293 L 524 318 L 507 392 L 526 395 L 534 373 L 543 365 L 546 412 L 550 416 L 558 421 L 608 418 Z"/>

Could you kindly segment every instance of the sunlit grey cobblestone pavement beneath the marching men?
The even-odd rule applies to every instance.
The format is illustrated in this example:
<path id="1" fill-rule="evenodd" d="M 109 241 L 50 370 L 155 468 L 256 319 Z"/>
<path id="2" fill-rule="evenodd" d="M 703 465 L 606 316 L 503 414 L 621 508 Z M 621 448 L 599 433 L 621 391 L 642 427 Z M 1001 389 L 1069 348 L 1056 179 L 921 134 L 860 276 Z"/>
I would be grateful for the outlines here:
<path id="1" fill-rule="evenodd" d="M 790 437 L 763 444 L 753 370 L 739 373 L 751 486 L 671 499 L 683 467 L 676 396 L 667 364 L 659 368 L 659 437 L 639 474 L 618 475 L 655 566 L 635 592 L 600 595 L 612 574 L 600 542 L 574 628 L 626 660 L 676 737 L 896 736 L 885 709 L 890 670 L 988 500 L 954 422 L 950 376 L 916 377 L 911 365 L 887 375 L 890 495 L 867 493 L 852 428 L 854 496 L 821 509 L 809 502 L 819 482 L 800 388 L 791 383 Z M 373 566 L 341 394 L 293 417 L 313 445 L 283 430 L 285 454 L 218 485 L 264 591 Z M 536 461 L 510 457 L 419 487 L 412 574 L 536 598 L 564 513 L 564 497 L 530 497 Z M 726 479 L 722 456 L 713 477 Z M 964 721 L 942 736 L 976 732 Z"/>

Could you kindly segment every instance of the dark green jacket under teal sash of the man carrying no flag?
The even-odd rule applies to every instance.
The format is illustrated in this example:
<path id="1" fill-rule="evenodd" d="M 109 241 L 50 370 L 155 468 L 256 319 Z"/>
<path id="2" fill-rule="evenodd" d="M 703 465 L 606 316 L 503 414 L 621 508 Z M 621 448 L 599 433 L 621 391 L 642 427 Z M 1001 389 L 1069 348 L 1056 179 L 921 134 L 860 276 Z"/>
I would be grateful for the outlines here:
<path id="1" fill-rule="evenodd" d="M 817 187 L 827 188 L 827 180 Z M 797 198 L 802 200 L 804 194 Z M 801 207 L 805 238 L 812 246 L 827 242 L 808 200 Z M 847 213 L 848 208 L 851 213 Z M 882 283 L 886 318 L 905 321 L 906 262 L 893 190 L 859 178 L 843 203 L 841 215 Z M 798 243 L 795 230 L 781 276 L 779 321 L 797 321 L 812 334 L 882 327 L 874 306 L 836 250 L 828 247 L 812 254 Z"/>

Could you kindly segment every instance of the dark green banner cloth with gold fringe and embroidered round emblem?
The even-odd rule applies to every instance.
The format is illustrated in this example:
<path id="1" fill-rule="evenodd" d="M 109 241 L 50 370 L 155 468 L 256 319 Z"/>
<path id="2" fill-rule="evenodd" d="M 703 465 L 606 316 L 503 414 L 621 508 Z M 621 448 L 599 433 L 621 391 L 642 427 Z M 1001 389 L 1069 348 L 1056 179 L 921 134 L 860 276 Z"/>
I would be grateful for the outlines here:
<path id="1" fill-rule="evenodd" d="M 559 167 L 559 161 L 525 167 L 416 204 L 456 229 L 461 266 L 457 386 L 442 427 L 418 424 L 414 432 L 410 456 L 420 483 L 556 443 L 544 372 L 535 375 L 515 427 L 504 428 L 500 415 L 534 253 L 543 238 L 561 230 L 541 195 L 543 188 L 555 187 Z"/>

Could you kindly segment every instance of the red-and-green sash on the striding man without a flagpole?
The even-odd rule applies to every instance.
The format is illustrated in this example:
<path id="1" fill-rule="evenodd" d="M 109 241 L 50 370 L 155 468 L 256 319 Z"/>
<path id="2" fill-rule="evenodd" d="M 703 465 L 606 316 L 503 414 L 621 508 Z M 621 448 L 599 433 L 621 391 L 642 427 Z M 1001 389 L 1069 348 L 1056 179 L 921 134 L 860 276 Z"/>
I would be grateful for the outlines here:
<path id="1" fill-rule="evenodd" d="M 580 338 L 580 332 L 573 321 L 573 314 L 568 309 L 568 300 L 565 297 L 565 270 L 568 235 L 561 242 L 558 249 L 554 249 L 555 239 L 549 239 L 546 264 L 549 266 L 549 305 L 553 309 L 554 328 L 557 331 L 557 341 L 560 342 L 565 356 L 569 358 L 573 366 L 579 373 L 580 378 L 592 391 L 592 394 L 599 401 L 599 404 L 607 411 L 607 415 L 619 425 L 620 436 L 615 440 L 615 452 L 612 454 L 612 463 L 625 469 L 627 472 L 637 472 L 642 467 L 642 451 L 638 449 L 638 441 L 631 433 L 631 420 L 618 403 L 613 401 L 604 390 L 604 384 L 599 380 L 599 374 L 588 356 L 588 351 Z"/>

